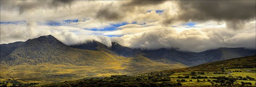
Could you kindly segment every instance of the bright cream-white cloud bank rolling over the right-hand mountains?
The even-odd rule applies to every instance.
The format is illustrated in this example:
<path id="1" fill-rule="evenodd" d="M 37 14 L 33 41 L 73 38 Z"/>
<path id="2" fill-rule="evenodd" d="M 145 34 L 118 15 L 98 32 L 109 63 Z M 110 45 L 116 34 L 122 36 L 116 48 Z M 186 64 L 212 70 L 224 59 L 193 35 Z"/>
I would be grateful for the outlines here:
<path id="1" fill-rule="evenodd" d="M 140 33 L 113 37 L 112 41 L 131 48 L 158 49 L 180 48 L 183 51 L 205 51 L 220 47 L 256 48 L 255 23 L 241 30 L 226 27 L 188 28 L 177 31 L 175 28 L 155 29 Z"/>

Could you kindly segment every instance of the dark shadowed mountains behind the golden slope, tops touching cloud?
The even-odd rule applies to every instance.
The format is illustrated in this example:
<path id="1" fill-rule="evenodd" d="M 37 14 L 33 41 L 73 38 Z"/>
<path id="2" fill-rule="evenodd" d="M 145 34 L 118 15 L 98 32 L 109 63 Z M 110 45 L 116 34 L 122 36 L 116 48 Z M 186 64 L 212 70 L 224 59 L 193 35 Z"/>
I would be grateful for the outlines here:
<path id="1" fill-rule="evenodd" d="M 136 56 L 137 54 L 141 54 L 156 62 L 163 62 L 166 64 L 173 63 L 173 62 L 180 62 L 188 66 L 195 66 L 195 65 L 200 65 L 207 62 L 232 59 L 232 58 L 242 57 L 242 56 L 251 56 L 256 54 L 256 50 L 246 49 L 246 48 L 218 48 L 218 49 L 210 49 L 202 52 L 180 51 L 177 48 L 160 48 L 156 50 L 142 50 L 142 49 L 132 49 L 132 48 L 124 47 L 118 44 L 117 42 L 112 42 L 112 46 L 107 48 L 104 44 L 97 41 L 87 42 L 86 44 L 72 46 L 72 47 L 79 48 L 79 49 L 88 49 L 88 50 L 104 49 L 103 51 L 114 53 L 119 56 L 125 56 L 125 57 L 132 57 L 132 56 Z M 88 47 L 93 47 L 93 48 L 88 48 Z"/>

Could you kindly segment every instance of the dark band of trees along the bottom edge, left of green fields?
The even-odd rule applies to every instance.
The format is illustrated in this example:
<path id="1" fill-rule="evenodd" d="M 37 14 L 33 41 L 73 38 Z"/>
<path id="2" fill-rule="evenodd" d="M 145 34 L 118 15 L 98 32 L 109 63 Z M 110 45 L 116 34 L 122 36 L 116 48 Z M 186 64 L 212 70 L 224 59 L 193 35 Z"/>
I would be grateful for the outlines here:
<path id="1" fill-rule="evenodd" d="M 90 78 L 78 81 L 46 84 L 43 87 L 172 87 L 181 86 L 180 82 L 170 82 L 163 73 L 141 76 L 117 75 L 105 78 Z"/>

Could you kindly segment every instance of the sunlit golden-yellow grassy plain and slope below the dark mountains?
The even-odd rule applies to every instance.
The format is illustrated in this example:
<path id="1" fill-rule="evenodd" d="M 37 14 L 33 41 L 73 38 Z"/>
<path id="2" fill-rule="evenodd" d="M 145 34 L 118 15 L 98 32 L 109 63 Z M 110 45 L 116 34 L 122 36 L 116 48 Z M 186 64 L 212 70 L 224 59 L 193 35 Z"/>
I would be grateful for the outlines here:
<path id="1" fill-rule="evenodd" d="M 72 81 L 89 77 L 109 77 L 111 75 L 134 75 L 186 67 L 185 65 L 153 62 L 143 56 L 134 58 L 115 57 L 108 63 L 84 65 L 1 65 L 0 75 L 5 79 L 17 80 L 22 83 L 49 84 L 62 81 Z M 105 60 L 106 61 L 106 60 Z"/>

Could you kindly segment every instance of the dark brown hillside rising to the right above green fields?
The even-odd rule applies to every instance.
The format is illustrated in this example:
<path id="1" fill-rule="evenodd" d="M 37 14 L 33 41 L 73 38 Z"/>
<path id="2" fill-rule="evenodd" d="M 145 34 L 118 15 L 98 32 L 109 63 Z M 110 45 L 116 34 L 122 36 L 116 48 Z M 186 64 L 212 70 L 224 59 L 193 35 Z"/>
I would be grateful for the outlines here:
<path id="1" fill-rule="evenodd" d="M 186 67 L 181 69 L 164 70 L 163 72 L 171 71 L 207 71 L 207 72 L 217 72 L 222 69 L 232 69 L 232 68 L 256 68 L 256 55 L 245 56 L 234 59 L 227 59 L 217 62 L 209 62 L 194 67 Z"/>

